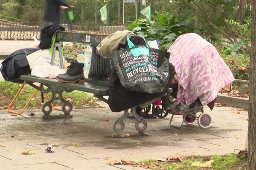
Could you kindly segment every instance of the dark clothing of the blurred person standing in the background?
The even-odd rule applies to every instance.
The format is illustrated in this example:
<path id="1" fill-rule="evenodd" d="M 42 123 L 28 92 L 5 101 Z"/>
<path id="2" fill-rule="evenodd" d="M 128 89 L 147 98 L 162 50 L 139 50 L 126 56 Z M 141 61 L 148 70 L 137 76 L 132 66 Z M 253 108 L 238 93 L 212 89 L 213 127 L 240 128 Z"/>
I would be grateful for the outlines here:
<path id="1" fill-rule="evenodd" d="M 69 7 L 69 3 L 67 3 L 65 0 L 46 0 L 46 12 L 44 14 L 44 20 L 47 22 L 60 23 L 61 5 Z"/>

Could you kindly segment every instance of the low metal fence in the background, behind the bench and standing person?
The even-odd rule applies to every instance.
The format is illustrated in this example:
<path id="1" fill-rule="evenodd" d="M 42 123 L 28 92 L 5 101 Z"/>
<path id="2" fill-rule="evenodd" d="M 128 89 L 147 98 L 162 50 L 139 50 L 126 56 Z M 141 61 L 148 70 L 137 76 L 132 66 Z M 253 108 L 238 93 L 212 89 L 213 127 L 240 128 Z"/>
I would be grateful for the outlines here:
<path id="1" fill-rule="evenodd" d="M 123 31 L 125 26 L 86 27 L 74 24 L 61 24 L 65 31 L 108 35 L 117 30 Z M 0 20 L 0 40 L 33 40 L 40 39 L 40 31 L 44 23 L 13 23 Z"/>

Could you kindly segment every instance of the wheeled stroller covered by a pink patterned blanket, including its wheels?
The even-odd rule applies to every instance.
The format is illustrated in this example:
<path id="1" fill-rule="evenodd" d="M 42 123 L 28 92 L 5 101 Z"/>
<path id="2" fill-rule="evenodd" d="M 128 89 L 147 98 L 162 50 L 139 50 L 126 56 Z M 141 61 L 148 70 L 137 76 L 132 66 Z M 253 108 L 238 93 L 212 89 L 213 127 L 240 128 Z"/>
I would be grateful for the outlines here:
<path id="1" fill-rule="evenodd" d="M 170 113 L 169 125 L 172 127 L 180 128 L 184 122 L 191 125 L 196 120 L 200 127 L 209 127 L 212 118 L 204 113 L 204 105 L 212 110 L 221 88 L 231 87 L 234 81 L 232 72 L 216 48 L 195 33 L 178 37 L 168 52 L 177 77 L 172 84 L 173 92 L 161 98 L 160 106 L 153 104 L 152 117 L 164 118 Z M 138 108 L 138 111 L 140 115 L 143 109 Z M 149 106 L 144 111 L 148 112 Z M 174 115 L 183 116 L 180 126 L 172 125 Z"/>

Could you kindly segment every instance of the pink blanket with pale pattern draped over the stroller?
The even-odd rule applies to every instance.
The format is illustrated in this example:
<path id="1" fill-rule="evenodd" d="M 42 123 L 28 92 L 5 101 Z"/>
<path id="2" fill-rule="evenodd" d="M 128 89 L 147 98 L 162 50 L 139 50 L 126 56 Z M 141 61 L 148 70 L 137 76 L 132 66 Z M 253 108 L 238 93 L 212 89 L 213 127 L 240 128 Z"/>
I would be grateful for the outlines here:
<path id="1" fill-rule="evenodd" d="M 198 34 L 181 35 L 168 52 L 178 79 L 176 104 L 184 98 L 186 105 L 190 105 L 199 97 L 207 105 L 234 80 L 216 48 Z"/>

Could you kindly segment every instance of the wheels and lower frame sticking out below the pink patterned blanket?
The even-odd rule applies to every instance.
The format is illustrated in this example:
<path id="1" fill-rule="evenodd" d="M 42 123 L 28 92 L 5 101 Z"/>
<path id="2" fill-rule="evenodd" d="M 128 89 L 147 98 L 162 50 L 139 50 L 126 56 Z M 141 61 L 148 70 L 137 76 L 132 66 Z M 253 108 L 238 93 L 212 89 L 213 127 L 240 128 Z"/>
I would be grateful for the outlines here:
<path id="1" fill-rule="evenodd" d="M 173 89 L 172 93 L 163 96 L 160 100 L 162 101 L 160 105 L 157 104 L 159 103 L 159 101 L 156 101 L 152 104 L 152 106 L 148 105 L 146 108 L 137 107 L 137 114 L 143 118 L 158 117 L 160 119 L 165 118 L 166 116 L 168 116 L 168 114 L 172 114 L 169 126 L 176 128 L 183 127 L 184 123 L 187 125 L 192 125 L 196 121 L 198 122 L 198 125 L 202 128 L 210 127 L 210 125 L 212 124 L 212 118 L 208 113 L 204 113 L 204 106 L 201 104 L 200 100 L 196 99 L 196 101 L 189 106 L 186 106 L 184 100 L 182 100 L 178 105 L 175 105 L 175 98 L 177 96 L 177 84 L 172 83 L 171 87 Z M 214 101 L 208 106 L 212 110 L 214 106 Z M 152 113 L 149 114 L 151 109 Z M 198 113 L 200 113 L 199 116 Z M 183 120 L 179 126 L 172 125 L 172 120 L 175 115 L 182 115 Z"/>

